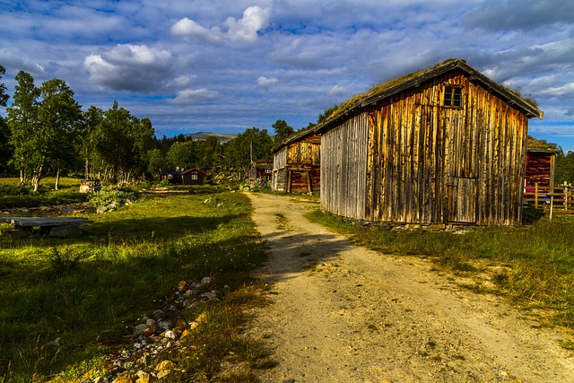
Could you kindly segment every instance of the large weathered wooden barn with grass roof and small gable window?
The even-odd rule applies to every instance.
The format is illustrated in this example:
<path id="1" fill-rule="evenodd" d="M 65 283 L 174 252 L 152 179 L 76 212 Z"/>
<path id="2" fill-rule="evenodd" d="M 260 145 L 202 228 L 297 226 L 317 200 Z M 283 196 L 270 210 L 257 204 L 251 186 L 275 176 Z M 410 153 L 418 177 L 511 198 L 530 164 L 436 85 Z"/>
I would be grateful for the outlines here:
<path id="1" fill-rule="evenodd" d="M 378 85 L 315 129 L 321 205 L 367 222 L 520 224 L 533 117 L 461 59 Z"/>

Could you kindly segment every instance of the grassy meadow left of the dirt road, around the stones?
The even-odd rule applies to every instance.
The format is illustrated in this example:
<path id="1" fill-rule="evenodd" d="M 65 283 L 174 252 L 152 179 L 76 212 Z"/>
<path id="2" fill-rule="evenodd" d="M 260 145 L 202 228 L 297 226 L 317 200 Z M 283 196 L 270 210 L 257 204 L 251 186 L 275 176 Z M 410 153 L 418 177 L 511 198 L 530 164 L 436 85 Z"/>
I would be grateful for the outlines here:
<path id="1" fill-rule="evenodd" d="M 213 376 L 230 352 L 265 358 L 239 336 L 242 308 L 258 301 L 250 272 L 265 259 L 249 213 L 245 196 L 202 187 L 86 214 L 93 223 L 77 239 L 0 237 L 0 382 L 95 374 L 136 318 L 158 309 L 179 281 L 204 276 L 230 292 L 187 313 L 207 316 L 204 335 L 188 342 L 209 348 L 180 356 L 188 374 Z"/>

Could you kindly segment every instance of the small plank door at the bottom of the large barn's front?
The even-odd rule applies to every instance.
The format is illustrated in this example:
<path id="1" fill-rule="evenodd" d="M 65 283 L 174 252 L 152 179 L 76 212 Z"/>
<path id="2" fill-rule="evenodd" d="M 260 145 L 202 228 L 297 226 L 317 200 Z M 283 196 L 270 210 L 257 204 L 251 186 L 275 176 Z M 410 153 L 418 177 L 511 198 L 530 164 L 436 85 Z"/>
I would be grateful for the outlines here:
<path id="1" fill-rule="evenodd" d="M 452 177 L 448 184 L 448 221 L 475 223 L 476 178 Z"/>

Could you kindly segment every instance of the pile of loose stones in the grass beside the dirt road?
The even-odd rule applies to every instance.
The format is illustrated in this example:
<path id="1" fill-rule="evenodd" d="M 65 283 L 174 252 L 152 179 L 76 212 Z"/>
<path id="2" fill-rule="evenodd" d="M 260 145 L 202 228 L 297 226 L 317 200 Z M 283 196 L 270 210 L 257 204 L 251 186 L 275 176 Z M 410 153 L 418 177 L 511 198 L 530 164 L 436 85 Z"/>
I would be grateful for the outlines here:
<path id="1" fill-rule="evenodd" d="M 173 352 L 185 352 L 179 341 L 202 325 L 204 314 L 187 320 L 185 311 L 210 300 L 221 300 L 223 292 L 209 290 L 211 278 L 201 282 L 181 281 L 170 297 L 162 300 L 163 307 L 143 316 L 135 325 L 131 339 L 120 353 L 109 358 L 111 370 L 106 377 L 85 379 L 82 383 L 149 383 L 167 379 L 173 374 L 185 373 L 178 365 L 164 359 Z M 227 286 L 226 286 L 227 288 Z"/>

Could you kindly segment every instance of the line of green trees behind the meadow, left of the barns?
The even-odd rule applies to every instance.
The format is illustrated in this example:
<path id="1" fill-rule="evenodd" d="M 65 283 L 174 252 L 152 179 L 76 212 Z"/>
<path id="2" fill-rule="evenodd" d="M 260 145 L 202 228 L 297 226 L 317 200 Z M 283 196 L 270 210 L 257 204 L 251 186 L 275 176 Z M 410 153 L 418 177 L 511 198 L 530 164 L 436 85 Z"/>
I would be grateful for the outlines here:
<path id="1" fill-rule="evenodd" d="M 58 183 L 60 175 L 69 174 L 131 182 L 175 168 L 244 174 L 252 160 L 271 160 L 274 144 L 295 132 L 278 119 L 274 135 L 254 126 L 225 143 L 214 136 L 157 138 L 149 118 L 136 118 L 117 101 L 108 110 L 83 111 L 63 80 L 37 86 L 24 71 L 14 78 L 8 106 L 4 74 L 0 65 L 0 106 L 6 111 L 0 118 L 0 174 L 18 175 L 35 191 L 48 175 Z"/>

